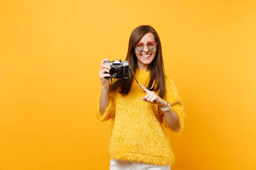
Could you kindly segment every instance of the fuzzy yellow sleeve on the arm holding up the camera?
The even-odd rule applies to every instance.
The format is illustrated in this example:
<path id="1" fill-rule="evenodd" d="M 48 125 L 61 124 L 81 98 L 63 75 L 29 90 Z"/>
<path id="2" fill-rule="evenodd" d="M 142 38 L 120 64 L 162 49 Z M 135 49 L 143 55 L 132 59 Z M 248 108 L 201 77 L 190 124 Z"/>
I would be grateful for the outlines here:
<path id="1" fill-rule="evenodd" d="M 114 91 L 110 92 L 108 96 L 109 96 L 109 104 L 108 104 L 108 107 L 105 109 L 105 113 L 103 115 L 100 109 L 99 99 L 96 102 L 95 116 L 99 122 L 112 119 L 113 116 L 115 115 L 115 112 L 116 112 L 115 92 Z"/>

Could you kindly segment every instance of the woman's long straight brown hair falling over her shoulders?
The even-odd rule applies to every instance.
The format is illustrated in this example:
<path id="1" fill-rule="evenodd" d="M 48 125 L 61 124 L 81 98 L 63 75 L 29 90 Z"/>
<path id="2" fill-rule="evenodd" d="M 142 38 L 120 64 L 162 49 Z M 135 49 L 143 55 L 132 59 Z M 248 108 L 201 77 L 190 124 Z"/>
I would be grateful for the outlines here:
<path id="1" fill-rule="evenodd" d="M 160 42 L 160 38 L 158 37 L 157 31 L 151 26 L 143 25 L 138 26 L 135 28 L 130 36 L 129 45 L 128 45 L 128 52 L 127 56 L 125 58 L 126 61 L 129 62 L 131 65 L 131 69 L 135 71 L 138 68 L 137 63 L 137 57 L 134 53 L 134 45 L 137 44 L 140 39 L 146 34 L 151 32 L 154 34 L 154 39 L 158 43 L 157 45 L 157 51 L 155 54 L 155 57 L 153 61 L 150 63 L 150 80 L 148 83 L 148 87 L 150 88 L 154 82 L 154 79 L 156 78 L 157 87 L 154 88 L 154 91 L 158 91 L 158 96 L 163 98 L 165 95 L 165 77 L 164 77 L 164 65 L 163 65 L 163 56 L 162 56 L 162 46 Z M 134 79 L 134 75 L 130 74 L 130 79 L 117 79 L 110 85 L 110 91 L 112 91 L 115 88 L 120 88 L 119 93 L 120 94 L 128 94 L 131 89 L 131 83 Z"/>

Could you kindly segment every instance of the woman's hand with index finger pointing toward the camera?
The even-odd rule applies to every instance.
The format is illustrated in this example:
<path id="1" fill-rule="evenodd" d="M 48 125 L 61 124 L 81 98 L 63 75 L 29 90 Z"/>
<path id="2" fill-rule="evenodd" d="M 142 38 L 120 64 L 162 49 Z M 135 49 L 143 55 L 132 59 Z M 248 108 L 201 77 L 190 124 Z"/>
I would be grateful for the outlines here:
<path id="1" fill-rule="evenodd" d="M 145 102 L 159 105 L 160 108 L 166 108 L 168 106 L 167 102 L 161 99 L 157 94 L 155 94 L 154 91 L 148 90 L 142 84 L 140 84 L 140 82 L 139 85 L 147 93 L 144 97 L 141 98 L 142 100 L 144 100 Z"/>

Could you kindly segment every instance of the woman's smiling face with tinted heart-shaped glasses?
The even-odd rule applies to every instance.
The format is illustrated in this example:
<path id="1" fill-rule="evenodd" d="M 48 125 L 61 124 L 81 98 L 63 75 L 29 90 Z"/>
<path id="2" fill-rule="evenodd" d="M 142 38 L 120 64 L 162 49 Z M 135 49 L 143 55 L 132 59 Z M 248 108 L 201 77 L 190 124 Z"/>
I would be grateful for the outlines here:
<path id="1" fill-rule="evenodd" d="M 156 51 L 157 43 L 154 39 L 154 34 L 146 33 L 140 41 L 135 45 L 135 54 L 137 57 L 138 67 L 146 71 L 149 64 L 153 61 Z"/>

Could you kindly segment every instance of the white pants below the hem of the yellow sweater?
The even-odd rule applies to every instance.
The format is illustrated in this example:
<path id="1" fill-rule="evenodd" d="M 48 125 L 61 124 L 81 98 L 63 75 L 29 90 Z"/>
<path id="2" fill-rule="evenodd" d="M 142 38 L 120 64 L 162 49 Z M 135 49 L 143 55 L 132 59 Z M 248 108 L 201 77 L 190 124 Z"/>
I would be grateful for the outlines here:
<path id="1" fill-rule="evenodd" d="M 157 166 L 153 164 L 143 164 L 139 162 L 127 162 L 110 160 L 110 170 L 171 170 L 171 166 Z"/>

